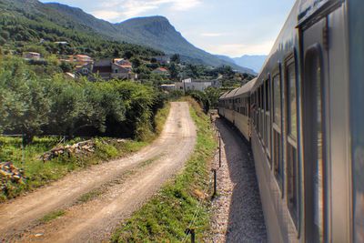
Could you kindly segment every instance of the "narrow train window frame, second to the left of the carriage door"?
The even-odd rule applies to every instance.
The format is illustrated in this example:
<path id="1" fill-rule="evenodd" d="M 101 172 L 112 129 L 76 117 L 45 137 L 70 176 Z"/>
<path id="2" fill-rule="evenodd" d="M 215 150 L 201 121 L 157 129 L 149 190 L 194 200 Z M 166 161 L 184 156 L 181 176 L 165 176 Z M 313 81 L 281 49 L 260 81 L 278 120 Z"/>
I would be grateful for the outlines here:
<path id="1" fill-rule="evenodd" d="M 273 69 L 272 72 L 272 88 L 271 88 L 271 96 L 272 96 L 272 170 L 274 177 L 278 183 L 278 187 L 280 189 L 281 197 L 284 197 L 284 183 L 285 183 L 285 170 L 284 170 L 284 155 L 283 155 L 283 147 L 284 147 L 284 134 L 283 134 L 283 116 L 284 116 L 284 100 L 283 100 L 283 82 L 282 82 L 282 66 L 280 61 L 278 65 Z M 275 78 L 278 76 L 278 84 L 279 91 L 276 93 L 275 91 Z M 278 121 L 276 120 L 276 95 L 279 96 L 279 110 L 280 116 L 278 117 Z M 277 123 L 279 122 L 279 124 Z"/>

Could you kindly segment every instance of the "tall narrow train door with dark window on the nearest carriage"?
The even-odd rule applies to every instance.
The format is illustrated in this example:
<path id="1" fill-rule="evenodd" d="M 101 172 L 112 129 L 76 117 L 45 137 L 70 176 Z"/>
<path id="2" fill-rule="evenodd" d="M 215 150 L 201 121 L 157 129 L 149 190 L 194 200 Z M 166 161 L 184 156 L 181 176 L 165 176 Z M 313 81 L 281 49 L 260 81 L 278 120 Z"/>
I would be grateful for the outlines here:
<path id="1" fill-rule="evenodd" d="M 303 145 L 306 242 L 326 241 L 327 179 L 325 114 L 328 76 L 327 19 L 303 31 Z"/>

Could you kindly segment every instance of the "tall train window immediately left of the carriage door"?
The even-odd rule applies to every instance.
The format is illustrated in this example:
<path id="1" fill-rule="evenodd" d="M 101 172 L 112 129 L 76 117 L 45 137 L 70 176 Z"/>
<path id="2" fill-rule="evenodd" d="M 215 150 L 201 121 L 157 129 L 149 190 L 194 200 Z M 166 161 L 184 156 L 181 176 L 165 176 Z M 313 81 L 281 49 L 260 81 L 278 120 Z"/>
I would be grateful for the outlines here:
<path id="1" fill-rule="evenodd" d="M 298 156 L 297 156 L 297 90 L 294 60 L 286 65 L 287 96 L 287 203 L 289 213 L 298 227 Z"/>

